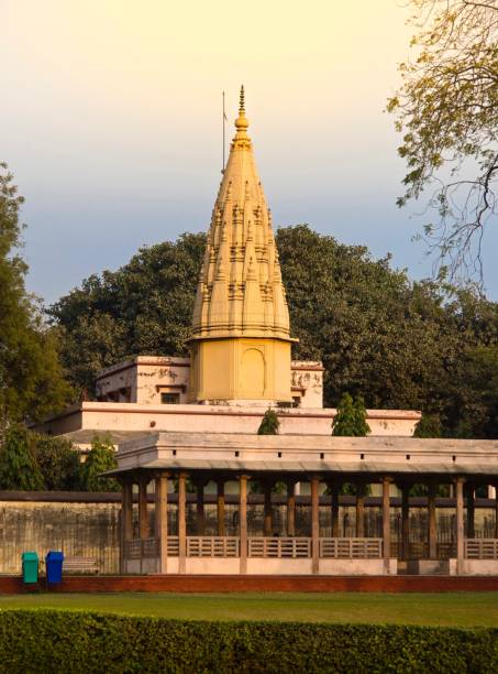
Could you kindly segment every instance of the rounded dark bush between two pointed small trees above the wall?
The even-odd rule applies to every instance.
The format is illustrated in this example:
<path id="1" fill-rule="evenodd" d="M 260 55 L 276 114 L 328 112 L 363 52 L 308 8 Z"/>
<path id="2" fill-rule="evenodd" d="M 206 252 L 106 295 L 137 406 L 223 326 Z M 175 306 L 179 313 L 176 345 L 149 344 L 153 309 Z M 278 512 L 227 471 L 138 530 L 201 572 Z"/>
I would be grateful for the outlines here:
<path id="1" fill-rule="evenodd" d="M 71 491 L 79 488 L 79 452 L 70 441 L 36 435 L 32 452 L 45 489 Z"/>

